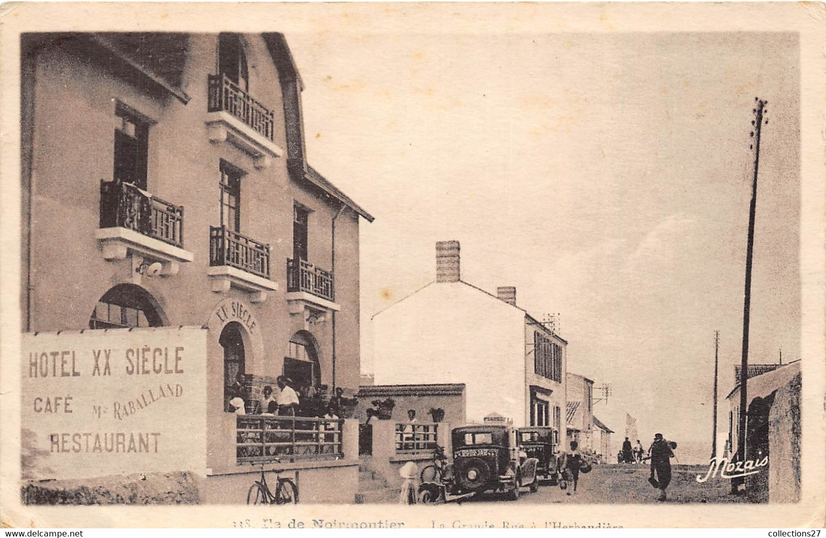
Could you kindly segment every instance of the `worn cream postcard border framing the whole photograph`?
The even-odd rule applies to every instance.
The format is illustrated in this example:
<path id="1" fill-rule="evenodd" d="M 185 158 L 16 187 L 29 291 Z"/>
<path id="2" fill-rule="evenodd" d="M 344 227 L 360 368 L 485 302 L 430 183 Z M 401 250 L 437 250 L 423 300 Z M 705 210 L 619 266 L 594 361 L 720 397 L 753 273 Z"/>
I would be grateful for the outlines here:
<path id="1" fill-rule="evenodd" d="M 6 3 L 0 7 L 2 48 L 2 211 L 0 211 L 0 512 L 3 526 L 232 527 L 263 526 L 261 511 L 246 506 L 22 506 L 20 502 L 20 35 L 38 31 L 275 31 L 319 34 L 533 32 L 622 33 L 683 31 L 791 31 L 800 36 L 800 274 L 803 374 L 800 503 L 782 507 L 736 505 L 321 505 L 276 507 L 267 517 L 323 518 L 345 524 L 382 521 L 405 527 L 622 526 L 798 527 L 824 525 L 824 61 L 823 3 Z"/>

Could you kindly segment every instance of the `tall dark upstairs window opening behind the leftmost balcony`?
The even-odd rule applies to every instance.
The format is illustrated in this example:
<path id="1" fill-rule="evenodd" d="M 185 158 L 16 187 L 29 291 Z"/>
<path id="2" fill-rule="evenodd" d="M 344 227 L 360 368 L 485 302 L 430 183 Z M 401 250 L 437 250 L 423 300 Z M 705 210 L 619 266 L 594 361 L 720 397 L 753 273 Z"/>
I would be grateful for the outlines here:
<path id="1" fill-rule="evenodd" d="M 116 106 L 115 116 L 114 179 L 145 191 L 150 121 L 121 103 Z"/>

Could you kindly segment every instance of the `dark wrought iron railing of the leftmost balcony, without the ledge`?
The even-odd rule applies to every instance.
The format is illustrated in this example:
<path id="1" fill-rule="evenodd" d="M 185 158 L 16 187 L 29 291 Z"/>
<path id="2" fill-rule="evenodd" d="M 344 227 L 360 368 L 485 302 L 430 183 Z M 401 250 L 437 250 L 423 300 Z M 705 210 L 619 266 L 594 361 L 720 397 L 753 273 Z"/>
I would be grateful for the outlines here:
<path id="1" fill-rule="evenodd" d="M 101 228 L 126 228 L 183 248 L 183 206 L 131 183 L 101 182 Z"/>

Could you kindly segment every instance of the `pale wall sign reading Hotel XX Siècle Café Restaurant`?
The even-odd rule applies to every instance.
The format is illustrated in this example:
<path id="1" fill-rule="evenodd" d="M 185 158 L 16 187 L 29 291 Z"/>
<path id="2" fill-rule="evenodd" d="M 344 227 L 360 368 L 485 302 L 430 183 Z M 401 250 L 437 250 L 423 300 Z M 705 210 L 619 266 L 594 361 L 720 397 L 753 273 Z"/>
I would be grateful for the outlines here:
<path id="1" fill-rule="evenodd" d="M 23 477 L 202 471 L 206 370 L 202 328 L 23 334 Z"/>

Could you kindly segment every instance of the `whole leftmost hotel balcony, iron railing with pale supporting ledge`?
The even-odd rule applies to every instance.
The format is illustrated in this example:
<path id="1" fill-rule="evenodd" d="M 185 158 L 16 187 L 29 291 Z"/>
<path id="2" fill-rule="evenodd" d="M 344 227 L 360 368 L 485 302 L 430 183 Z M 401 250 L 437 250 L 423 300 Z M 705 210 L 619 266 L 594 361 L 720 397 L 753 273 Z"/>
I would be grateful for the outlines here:
<path id="1" fill-rule="evenodd" d="M 178 272 L 179 262 L 192 262 L 183 249 L 183 207 L 161 200 L 131 183 L 101 182 L 100 228 L 95 237 L 103 257 L 133 262 L 160 262 L 161 276 Z"/>

